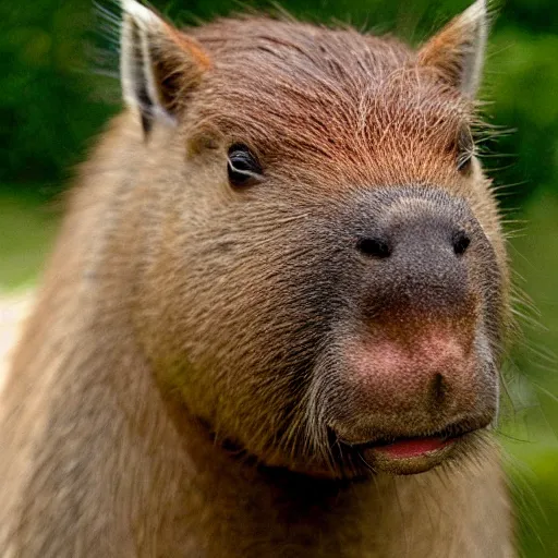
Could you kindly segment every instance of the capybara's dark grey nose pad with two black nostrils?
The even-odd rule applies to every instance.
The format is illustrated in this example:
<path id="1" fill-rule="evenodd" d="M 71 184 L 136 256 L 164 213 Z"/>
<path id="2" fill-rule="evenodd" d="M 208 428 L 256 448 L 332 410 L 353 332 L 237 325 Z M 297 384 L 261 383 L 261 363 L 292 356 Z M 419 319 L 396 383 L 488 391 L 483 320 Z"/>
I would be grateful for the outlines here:
<path id="1" fill-rule="evenodd" d="M 365 305 L 378 313 L 452 314 L 471 303 L 470 275 L 482 231 L 465 204 L 438 193 L 402 190 L 375 199 L 369 230 L 355 250 L 369 262 Z M 378 203 L 379 202 L 379 203 Z M 403 314 L 401 314 L 403 312 Z"/>

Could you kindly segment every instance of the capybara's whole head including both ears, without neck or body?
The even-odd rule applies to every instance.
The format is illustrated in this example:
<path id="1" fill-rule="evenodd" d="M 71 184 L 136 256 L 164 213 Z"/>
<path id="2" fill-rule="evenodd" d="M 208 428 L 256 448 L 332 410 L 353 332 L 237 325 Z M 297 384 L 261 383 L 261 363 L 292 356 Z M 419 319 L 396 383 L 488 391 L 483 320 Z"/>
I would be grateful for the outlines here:
<path id="1" fill-rule="evenodd" d="M 415 51 L 124 1 L 132 322 L 217 442 L 331 477 L 482 444 L 507 315 L 473 141 L 486 20 L 478 0 Z"/>

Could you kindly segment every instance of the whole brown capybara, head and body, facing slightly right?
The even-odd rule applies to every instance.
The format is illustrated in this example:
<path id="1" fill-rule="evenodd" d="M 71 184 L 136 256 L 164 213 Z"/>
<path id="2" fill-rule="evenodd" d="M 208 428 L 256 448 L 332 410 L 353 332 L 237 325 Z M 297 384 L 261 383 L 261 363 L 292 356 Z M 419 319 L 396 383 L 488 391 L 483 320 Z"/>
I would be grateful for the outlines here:
<path id="1" fill-rule="evenodd" d="M 124 0 L 2 395 L 2 556 L 513 556 L 486 35 L 484 0 L 417 50 Z"/>

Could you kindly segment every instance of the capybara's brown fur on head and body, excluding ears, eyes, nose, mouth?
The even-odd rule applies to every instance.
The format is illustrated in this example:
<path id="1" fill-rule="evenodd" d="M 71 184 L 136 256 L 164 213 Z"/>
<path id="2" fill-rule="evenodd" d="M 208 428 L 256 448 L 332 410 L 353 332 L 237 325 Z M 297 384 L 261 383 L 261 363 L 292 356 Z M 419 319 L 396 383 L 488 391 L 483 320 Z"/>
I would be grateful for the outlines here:
<path id="1" fill-rule="evenodd" d="M 500 357 L 498 213 L 478 162 L 456 166 L 471 101 L 395 39 L 257 17 L 189 33 L 184 63 L 204 64 L 168 105 L 178 126 L 146 141 L 126 111 L 72 196 L 0 410 L 2 556 L 512 556 L 486 435 L 409 477 L 343 469 L 325 439 L 327 413 L 345 424 L 348 339 L 407 342 L 448 324 L 471 345 L 483 319 Z M 226 175 L 235 142 L 266 177 L 242 191 Z M 355 199 L 400 185 L 464 199 L 492 248 L 470 269 L 473 314 L 416 311 L 401 325 L 393 311 L 361 333 L 367 317 L 336 314 L 360 304 L 357 288 L 333 291 L 342 260 L 326 264 L 351 238 L 327 231 Z M 401 218 L 421 211 L 410 199 Z M 343 401 L 359 421 L 369 411 Z M 376 421 L 439 427 L 417 411 Z"/>

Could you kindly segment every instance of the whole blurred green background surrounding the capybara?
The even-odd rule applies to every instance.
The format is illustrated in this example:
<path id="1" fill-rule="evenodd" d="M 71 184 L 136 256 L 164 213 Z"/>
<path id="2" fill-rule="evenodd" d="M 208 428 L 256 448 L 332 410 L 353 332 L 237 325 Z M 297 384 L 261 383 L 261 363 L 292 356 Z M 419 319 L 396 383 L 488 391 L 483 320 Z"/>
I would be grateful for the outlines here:
<path id="1" fill-rule="evenodd" d="M 158 0 L 185 24 L 270 2 Z M 282 0 L 315 22 L 350 22 L 417 44 L 466 0 Z M 522 337 L 510 351 L 499 426 L 524 556 L 558 557 L 558 2 L 497 7 L 482 98 L 483 143 L 510 236 Z M 107 11 L 105 11 L 107 10 Z M 33 284 L 72 169 L 120 109 L 118 4 L 0 0 L 0 292 Z"/>

